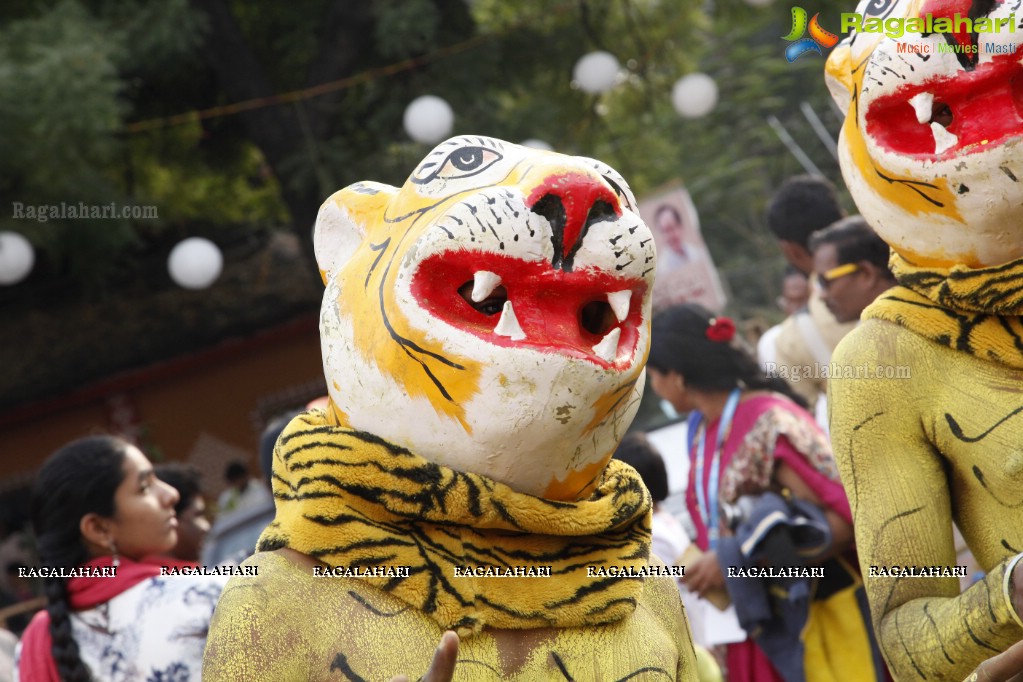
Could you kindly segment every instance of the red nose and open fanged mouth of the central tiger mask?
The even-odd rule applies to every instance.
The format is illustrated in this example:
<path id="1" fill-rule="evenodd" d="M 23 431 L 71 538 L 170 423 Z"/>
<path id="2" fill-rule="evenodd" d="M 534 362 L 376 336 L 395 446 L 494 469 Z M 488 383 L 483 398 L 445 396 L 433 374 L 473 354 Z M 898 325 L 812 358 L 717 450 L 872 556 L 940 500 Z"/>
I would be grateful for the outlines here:
<path id="1" fill-rule="evenodd" d="M 513 256 L 505 251 L 516 249 L 499 237 L 496 253 L 459 246 L 420 262 L 412 293 L 439 319 L 488 343 L 564 353 L 602 367 L 627 367 L 643 320 L 648 285 L 642 273 L 619 276 L 627 266 L 624 262 L 617 263 L 614 272 L 576 267 L 575 262 L 593 226 L 620 220 L 618 197 L 607 184 L 582 174 L 545 179 L 530 196 L 520 197 L 521 206 L 511 192 L 503 194 L 514 207 L 513 215 L 532 214 L 529 234 L 515 234 L 513 240 L 535 239 L 539 231 L 541 240 L 549 238 L 550 258 L 536 258 L 532 247 L 525 249 L 532 260 Z M 477 213 L 470 208 L 469 222 Z M 451 221 L 466 224 L 454 217 Z M 455 232 L 448 234 L 456 240 Z M 482 245 L 485 240 L 480 241 Z"/>

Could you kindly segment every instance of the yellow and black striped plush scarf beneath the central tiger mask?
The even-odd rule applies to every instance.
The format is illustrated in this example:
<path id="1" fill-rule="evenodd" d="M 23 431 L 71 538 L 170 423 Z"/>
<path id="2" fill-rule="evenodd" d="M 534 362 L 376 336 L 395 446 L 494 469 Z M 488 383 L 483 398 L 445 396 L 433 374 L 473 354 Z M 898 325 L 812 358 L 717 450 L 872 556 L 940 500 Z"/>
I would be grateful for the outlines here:
<path id="1" fill-rule="evenodd" d="M 641 578 L 587 575 L 648 563 L 650 494 L 618 460 L 588 499 L 558 502 L 439 466 L 313 410 L 277 441 L 273 494 L 276 517 L 260 550 L 291 547 L 330 566 L 409 566 L 407 577 L 359 580 L 442 628 L 612 623 L 642 590 Z M 458 576 L 466 566 L 550 566 L 551 577 Z"/>

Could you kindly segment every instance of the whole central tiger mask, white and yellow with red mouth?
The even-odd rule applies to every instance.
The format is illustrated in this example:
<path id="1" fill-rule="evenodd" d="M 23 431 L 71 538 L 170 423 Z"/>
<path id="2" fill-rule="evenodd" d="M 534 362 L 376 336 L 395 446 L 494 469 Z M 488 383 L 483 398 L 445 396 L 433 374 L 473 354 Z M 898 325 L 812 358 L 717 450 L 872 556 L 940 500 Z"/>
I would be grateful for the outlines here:
<path id="1" fill-rule="evenodd" d="M 335 419 L 549 499 L 585 497 L 638 408 L 654 240 L 601 162 L 486 137 L 321 207 Z"/>

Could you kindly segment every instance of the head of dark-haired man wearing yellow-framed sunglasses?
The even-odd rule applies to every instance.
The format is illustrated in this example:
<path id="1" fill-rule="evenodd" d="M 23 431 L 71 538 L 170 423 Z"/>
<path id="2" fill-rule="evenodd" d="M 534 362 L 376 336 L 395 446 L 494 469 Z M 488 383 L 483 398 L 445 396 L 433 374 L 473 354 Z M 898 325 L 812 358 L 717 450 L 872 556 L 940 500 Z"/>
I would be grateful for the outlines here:
<path id="1" fill-rule="evenodd" d="M 859 314 L 895 285 L 888 269 L 888 244 L 860 216 L 850 216 L 810 237 L 820 300 L 839 322 Z"/>

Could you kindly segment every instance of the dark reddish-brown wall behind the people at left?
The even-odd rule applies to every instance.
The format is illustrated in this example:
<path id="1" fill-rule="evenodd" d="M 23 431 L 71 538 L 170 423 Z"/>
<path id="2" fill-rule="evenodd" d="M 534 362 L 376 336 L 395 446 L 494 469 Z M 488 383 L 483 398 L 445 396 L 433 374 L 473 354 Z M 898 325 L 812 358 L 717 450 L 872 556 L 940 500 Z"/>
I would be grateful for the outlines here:
<path id="1" fill-rule="evenodd" d="M 0 413 L 0 495 L 30 484 L 62 444 L 97 433 L 125 435 L 153 461 L 197 465 L 216 494 L 230 460 L 258 472 L 268 420 L 325 393 L 315 317 L 233 338 Z"/>

